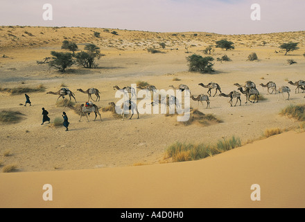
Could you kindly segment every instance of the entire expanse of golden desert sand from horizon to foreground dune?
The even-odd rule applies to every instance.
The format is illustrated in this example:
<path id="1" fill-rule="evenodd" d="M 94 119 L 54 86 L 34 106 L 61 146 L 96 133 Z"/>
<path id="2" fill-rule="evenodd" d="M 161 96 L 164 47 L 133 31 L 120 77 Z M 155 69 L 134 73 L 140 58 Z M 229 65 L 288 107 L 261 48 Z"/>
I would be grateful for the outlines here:
<path id="1" fill-rule="evenodd" d="M 101 37 L 94 37 L 94 31 L 100 32 Z M 304 180 L 297 176 L 304 172 L 304 165 L 299 159 L 302 154 L 298 153 L 304 147 L 291 145 L 296 142 L 291 138 L 300 141 L 304 135 L 288 133 L 264 142 L 247 143 L 260 139 L 267 128 L 288 131 L 299 126 L 299 122 L 281 117 L 279 112 L 287 105 L 304 103 L 302 90 L 295 94 L 295 86 L 288 84 L 288 80 L 304 79 L 304 32 L 218 35 L 115 30 L 119 35 L 112 35 L 111 31 L 103 28 L 0 26 L 0 55 L 8 57 L 0 58 L 0 87 L 37 87 L 41 84 L 46 87 L 45 92 L 28 93 L 33 103 L 31 107 L 19 105 L 25 103 L 24 94 L 0 92 L 0 110 L 25 114 L 19 123 L 0 123 L 0 169 L 8 164 L 17 165 L 15 173 L 0 173 L 1 197 L 8 195 L 1 198 L 2 206 L 282 207 L 302 204 L 304 192 L 301 185 L 304 185 Z M 193 53 L 205 56 L 202 50 L 222 39 L 234 42 L 235 50 L 215 49 L 211 55 L 215 59 L 216 71 L 213 74 L 188 71 L 187 56 Z M 94 43 L 105 56 L 98 60 L 97 69 L 73 65 L 66 73 L 60 73 L 47 64 L 37 65 L 36 61 L 50 57 L 51 51 L 67 52 L 60 49 L 63 40 L 76 42 L 80 50 L 85 44 Z M 267 42 L 265 46 L 263 41 Z M 279 45 L 290 41 L 299 42 L 300 49 L 284 56 L 284 51 L 279 51 Z M 159 49 L 159 42 L 165 42 L 166 48 Z M 147 49 L 153 46 L 164 53 L 148 53 Z M 186 53 L 185 46 L 189 46 L 189 53 Z M 247 61 L 247 56 L 253 52 L 259 60 Z M 232 61 L 216 60 L 224 55 Z M 297 61 L 297 64 L 288 65 L 288 59 Z M 174 78 L 180 80 L 174 81 Z M 214 114 L 222 123 L 183 126 L 175 117 L 165 117 L 164 114 L 140 114 L 139 119 L 134 117 L 122 121 L 115 119 L 110 112 L 101 112 L 103 121 L 93 121 L 93 117 L 89 117 L 89 123 L 85 118 L 78 122 L 80 117 L 76 112 L 55 105 L 58 96 L 46 94 L 57 92 L 61 85 L 65 85 L 76 94 L 76 104 L 80 104 L 87 101 L 87 95 L 76 89 L 96 87 L 101 92 L 101 101 L 94 103 L 99 108 L 105 108 L 108 103 L 119 100 L 114 97 L 114 85 L 130 86 L 139 80 L 166 90 L 169 85 L 177 87 L 186 84 L 193 95 L 207 94 L 207 89 L 198 83 L 218 83 L 222 91 L 229 94 L 237 89 L 234 83 L 244 84 L 252 80 L 266 100 L 245 104 L 245 96 L 242 95 L 242 105 L 232 108 L 228 98 L 217 95 L 210 98 L 211 109 L 205 109 L 205 104 L 200 104 L 198 110 Z M 290 101 L 286 101 L 287 94 L 267 94 L 267 89 L 259 86 L 269 81 L 274 81 L 278 87 L 290 87 Z M 191 106 L 197 108 L 197 102 L 191 101 Z M 69 132 L 51 124 L 41 126 L 43 107 L 49 111 L 51 123 L 56 117 L 62 119 L 62 112 L 67 112 L 71 123 Z M 160 164 L 164 162 L 166 148 L 175 142 L 213 144 L 232 135 L 247 145 L 206 160 Z M 273 146 L 275 142 L 283 145 L 280 150 L 283 153 L 277 151 L 278 146 Z M 6 151 L 10 153 L 8 157 L 3 156 Z M 232 167 L 227 167 L 226 163 L 232 164 Z M 132 167 L 134 165 L 148 166 Z M 295 169 L 297 165 L 299 167 Z M 296 171 L 290 174 L 289 169 Z M 125 176 L 130 181 L 127 185 L 123 180 Z M 33 193 L 40 194 L 41 183 L 46 183 L 44 181 L 48 178 L 60 190 L 60 200 L 42 203 L 41 195 L 35 197 Z M 20 181 L 28 192 L 22 194 L 25 197 L 17 203 L 18 192 L 15 191 L 19 190 Z M 78 185 L 73 187 L 74 183 Z M 252 203 L 249 200 L 249 187 L 253 183 L 266 187 L 265 201 Z M 12 189 L 14 185 L 17 186 L 15 191 Z M 66 186 L 80 189 L 80 196 L 67 198 Z M 157 193 L 161 187 L 162 190 Z M 194 189 L 190 190 L 190 187 Z M 275 191 L 271 191 L 273 188 Z M 110 192 L 110 189 L 113 190 Z M 198 193 L 199 189 L 202 193 Z M 279 189 L 284 189 L 284 196 L 278 196 L 281 193 Z M 89 194 L 87 190 L 90 190 Z M 94 191 L 103 196 L 103 201 L 101 196 L 92 196 Z M 132 197 L 135 191 L 141 195 Z M 155 198 L 152 200 L 152 197 Z M 166 197 L 168 199 L 164 201 Z"/>

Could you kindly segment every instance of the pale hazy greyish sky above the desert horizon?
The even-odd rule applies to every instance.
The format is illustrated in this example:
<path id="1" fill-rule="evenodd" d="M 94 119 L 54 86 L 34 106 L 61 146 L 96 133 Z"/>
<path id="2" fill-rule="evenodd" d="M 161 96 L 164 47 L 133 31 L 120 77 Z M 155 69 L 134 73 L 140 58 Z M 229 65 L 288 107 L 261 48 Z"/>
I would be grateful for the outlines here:
<path id="1" fill-rule="evenodd" d="M 53 20 L 44 20 L 45 3 Z M 253 20 L 253 3 L 261 20 Z M 304 30 L 302 0 L 2 0 L 3 26 L 112 27 L 155 33 L 204 32 L 260 35 Z"/>

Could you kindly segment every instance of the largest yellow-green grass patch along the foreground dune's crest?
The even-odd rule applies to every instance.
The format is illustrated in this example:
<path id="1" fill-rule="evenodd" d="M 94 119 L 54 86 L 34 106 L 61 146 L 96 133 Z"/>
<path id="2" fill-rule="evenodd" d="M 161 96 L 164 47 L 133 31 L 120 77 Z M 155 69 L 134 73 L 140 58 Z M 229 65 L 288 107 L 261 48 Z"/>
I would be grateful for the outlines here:
<path id="1" fill-rule="evenodd" d="M 241 139 L 234 136 L 230 139 L 221 139 L 214 145 L 176 142 L 166 149 L 165 158 L 172 158 L 173 162 L 201 160 L 232 150 L 238 146 L 241 146 Z"/>

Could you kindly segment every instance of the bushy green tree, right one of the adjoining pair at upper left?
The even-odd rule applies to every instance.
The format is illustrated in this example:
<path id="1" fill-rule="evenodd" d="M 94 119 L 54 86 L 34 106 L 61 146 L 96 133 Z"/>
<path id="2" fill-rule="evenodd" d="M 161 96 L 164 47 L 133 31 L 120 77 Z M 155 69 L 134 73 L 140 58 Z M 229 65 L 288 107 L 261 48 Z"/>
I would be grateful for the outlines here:
<path id="1" fill-rule="evenodd" d="M 76 53 L 76 62 L 78 65 L 81 65 L 85 68 L 96 68 L 96 59 L 101 58 L 100 48 L 95 44 L 87 44 L 84 48 L 86 51 L 81 51 L 80 53 Z"/>

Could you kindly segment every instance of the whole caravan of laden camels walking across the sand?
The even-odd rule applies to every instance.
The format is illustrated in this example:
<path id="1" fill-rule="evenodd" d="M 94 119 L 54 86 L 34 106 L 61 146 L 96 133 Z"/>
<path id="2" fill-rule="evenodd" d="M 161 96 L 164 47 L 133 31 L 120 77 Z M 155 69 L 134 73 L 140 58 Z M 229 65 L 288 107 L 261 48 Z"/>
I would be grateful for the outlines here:
<path id="1" fill-rule="evenodd" d="M 296 86 L 295 89 L 295 94 L 299 93 L 299 89 L 303 90 L 303 93 L 305 92 L 305 81 L 304 80 L 298 80 L 295 83 L 293 83 L 293 81 L 289 81 L 288 82 L 290 85 L 294 85 Z M 172 89 L 180 89 L 181 92 L 185 92 L 186 94 L 189 93 L 189 99 L 193 100 L 193 101 L 197 101 L 197 107 L 199 106 L 199 103 L 201 103 L 202 105 L 203 102 L 207 103 L 207 106 L 205 107 L 205 109 L 207 108 L 211 108 L 211 101 L 210 101 L 210 97 L 211 97 L 211 90 L 214 89 L 215 90 L 215 94 L 213 95 L 213 97 L 216 96 L 216 94 L 219 92 L 219 96 L 223 96 L 223 97 L 227 97 L 229 98 L 229 104 L 233 107 L 236 106 L 239 102 L 239 105 L 241 105 L 241 95 L 244 94 L 245 95 L 245 103 L 247 103 L 248 101 L 250 103 L 259 103 L 259 90 L 256 89 L 256 84 L 253 83 L 252 81 L 248 80 L 245 82 L 245 84 L 241 85 L 239 83 L 234 83 L 234 85 L 237 87 L 236 90 L 233 90 L 232 92 L 229 92 L 228 94 L 225 94 L 224 92 L 222 92 L 220 85 L 218 85 L 218 83 L 208 83 L 207 85 L 204 85 L 204 83 L 199 83 L 198 85 L 200 85 L 203 88 L 207 89 L 207 94 L 199 94 L 199 95 L 193 95 L 191 94 L 190 88 L 187 85 L 181 84 L 177 87 L 174 87 L 173 85 L 170 85 L 169 87 L 171 87 Z M 288 98 L 286 100 L 290 99 L 290 88 L 288 86 L 281 86 L 277 88 L 277 84 L 269 81 L 268 83 L 261 83 L 259 84 L 263 89 L 267 88 L 267 94 L 282 94 L 284 97 L 284 94 L 288 94 Z M 157 89 L 157 87 L 155 87 L 154 85 L 148 85 L 144 88 L 142 87 L 137 87 L 138 89 L 141 90 L 146 90 L 146 95 L 150 94 L 150 93 L 157 93 L 159 90 Z M 129 119 L 132 119 L 134 114 L 137 114 L 137 119 L 139 119 L 139 111 L 137 108 L 137 88 L 135 89 L 134 87 L 123 87 L 120 88 L 119 86 L 115 85 L 113 87 L 114 90 L 118 90 L 120 92 L 123 92 L 124 97 L 127 96 L 128 99 L 126 99 L 124 101 L 123 104 L 121 104 L 119 110 L 121 110 L 121 114 L 123 116 L 123 119 L 125 117 L 125 114 L 128 112 L 131 112 L 131 117 Z M 270 92 L 270 90 L 272 90 L 272 92 Z M 81 92 L 82 94 L 87 94 L 88 96 L 88 101 L 86 101 L 85 103 L 82 103 L 80 106 L 78 107 L 73 107 L 73 105 L 71 105 L 70 103 L 67 105 L 69 108 L 71 108 L 72 110 L 75 110 L 76 112 L 78 112 L 80 114 L 80 119 L 79 121 L 81 121 L 82 116 L 85 116 L 87 118 L 87 121 L 89 122 L 89 117 L 90 117 L 90 113 L 94 113 L 95 114 L 95 118 L 94 121 L 96 121 L 96 118 L 99 116 L 101 121 L 102 117 L 101 117 L 101 113 L 99 112 L 99 108 L 96 104 L 92 103 L 91 100 L 92 99 L 92 95 L 94 95 L 95 98 L 95 102 L 100 101 L 101 96 L 100 96 L 100 91 L 94 87 L 89 88 L 87 90 L 83 90 L 83 89 L 77 89 L 78 92 Z M 65 97 L 69 96 L 69 100 L 71 101 L 71 99 L 73 98 L 74 101 L 77 103 L 76 101 L 76 95 L 71 92 L 70 89 L 68 88 L 62 88 L 60 90 L 58 90 L 58 92 L 47 92 L 46 94 L 53 94 L 53 95 L 58 95 L 58 99 L 62 98 L 65 99 Z M 134 100 L 132 100 L 132 98 L 135 97 L 135 102 Z M 146 96 L 147 97 L 147 96 Z M 159 97 L 159 96 L 158 96 Z M 131 99 L 129 99 L 131 98 Z M 149 97 L 148 97 L 149 98 Z M 151 97 L 150 97 L 151 98 Z M 251 101 L 251 98 L 252 101 Z M 304 96 L 305 98 L 305 96 Z M 56 103 L 58 102 L 58 99 L 56 101 Z M 235 104 L 233 105 L 233 100 L 236 99 Z M 166 100 L 166 101 L 164 101 Z M 177 108 L 180 108 L 180 101 L 179 99 L 176 98 L 176 96 L 173 95 L 167 95 L 163 101 L 161 99 L 156 99 L 154 98 L 153 101 L 150 101 L 149 105 L 159 105 L 164 103 L 164 105 L 166 106 L 170 106 L 170 105 L 176 105 Z M 113 107 L 116 110 L 116 104 L 111 102 L 109 103 L 111 105 L 113 105 Z"/>

